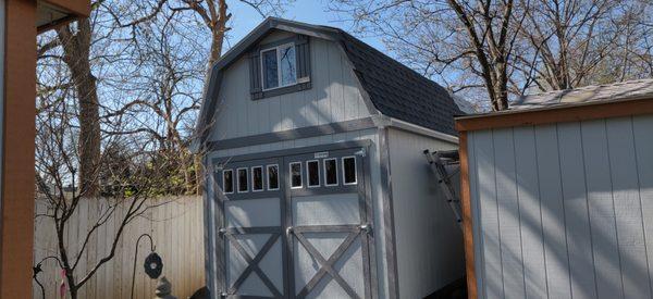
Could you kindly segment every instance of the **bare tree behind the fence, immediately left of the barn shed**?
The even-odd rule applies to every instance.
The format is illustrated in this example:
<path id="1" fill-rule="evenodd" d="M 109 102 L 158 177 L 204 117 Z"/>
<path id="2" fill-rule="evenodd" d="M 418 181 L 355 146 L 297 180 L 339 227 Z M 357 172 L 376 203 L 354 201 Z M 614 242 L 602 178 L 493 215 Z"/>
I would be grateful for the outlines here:
<path id="1" fill-rule="evenodd" d="M 115 14 L 115 13 L 114 13 Z M 195 115 L 199 109 L 205 74 L 205 52 L 188 47 L 181 24 L 185 16 L 178 11 L 163 9 L 149 24 L 134 34 L 138 54 L 133 62 L 136 72 L 111 79 L 111 85 L 134 97 L 116 99 L 118 109 L 102 115 L 112 123 L 124 123 L 125 116 L 137 115 L 139 122 L 126 124 L 107 135 L 144 134 L 157 141 L 160 159 L 173 164 L 168 174 L 171 180 L 181 175 L 183 185 L 170 194 L 196 194 L 196 165 L 189 150 Z M 174 173 L 172 171 L 180 171 Z M 171 186 L 173 187 L 173 186 Z"/>

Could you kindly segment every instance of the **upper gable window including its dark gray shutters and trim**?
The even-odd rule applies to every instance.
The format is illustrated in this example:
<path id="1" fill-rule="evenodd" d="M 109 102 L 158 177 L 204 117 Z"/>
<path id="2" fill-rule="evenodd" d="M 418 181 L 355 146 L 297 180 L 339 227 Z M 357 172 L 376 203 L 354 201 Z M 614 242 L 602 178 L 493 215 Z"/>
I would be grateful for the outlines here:
<path id="1" fill-rule="evenodd" d="M 252 100 L 311 88 L 309 38 L 296 35 L 259 45 L 249 53 Z"/>

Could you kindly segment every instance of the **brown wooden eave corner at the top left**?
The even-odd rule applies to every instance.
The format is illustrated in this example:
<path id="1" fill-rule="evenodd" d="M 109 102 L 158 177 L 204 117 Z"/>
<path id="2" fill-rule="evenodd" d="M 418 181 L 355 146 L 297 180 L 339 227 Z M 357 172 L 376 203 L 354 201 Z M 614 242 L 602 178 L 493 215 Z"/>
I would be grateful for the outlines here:
<path id="1" fill-rule="evenodd" d="M 90 1 L 88 0 L 39 0 L 36 8 L 36 28 L 38 33 L 90 14 Z"/>

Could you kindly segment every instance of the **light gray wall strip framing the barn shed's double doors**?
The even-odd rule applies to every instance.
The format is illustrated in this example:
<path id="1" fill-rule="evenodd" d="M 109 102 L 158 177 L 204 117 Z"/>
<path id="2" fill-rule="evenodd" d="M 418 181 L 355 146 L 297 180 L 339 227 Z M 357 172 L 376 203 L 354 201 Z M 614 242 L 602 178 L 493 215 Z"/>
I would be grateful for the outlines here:
<path id="1" fill-rule="evenodd" d="M 219 150 L 208 153 L 206 161 L 211 161 L 213 158 L 224 158 L 224 157 L 234 157 L 239 154 L 251 154 L 251 153 L 262 153 L 267 151 L 274 150 L 283 150 L 283 149 L 295 149 L 303 147 L 311 147 L 319 145 L 329 145 L 334 142 L 342 141 L 350 141 L 350 140 L 365 140 L 369 139 L 372 142 L 372 146 L 369 151 L 370 155 L 370 164 L 371 164 L 371 196 L 374 211 L 374 240 L 375 240 L 375 256 L 377 257 L 385 257 L 385 244 L 384 239 L 384 225 L 383 225 L 383 204 L 381 202 L 382 198 L 381 194 L 381 178 L 380 178 L 380 169 L 379 169 L 379 138 L 377 129 L 365 129 L 349 133 L 341 133 L 341 134 L 332 134 L 324 135 L 320 137 L 312 138 L 303 138 L 295 140 L 287 140 L 274 144 L 267 144 L 260 146 L 250 146 L 245 148 L 236 148 L 236 149 L 225 149 Z M 211 170 L 210 166 L 207 167 Z M 207 207 L 206 210 L 208 217 L 205 219 L 205 226 L 208 227 L 206 235 L 206 246 L 207 246 L 207 285 L 211 289 L 212 294 L 215 294 L 215 273 L 218 269 L 218 264 L 215 262 L 214 253 L 214 245 L 215 245 L 215 229 L 220 227 L 219 224 L 215 223 L 215 202 L 212 200 L 214 198 L 214 191 L 212 189 L 212 185 L 207 184 Z M 378 291 L 380 298 L 389 298 L 387 295 L 387 270 L 385 264 L 385 259 L 377 258 L 377 277 L 378 277 Z"/>

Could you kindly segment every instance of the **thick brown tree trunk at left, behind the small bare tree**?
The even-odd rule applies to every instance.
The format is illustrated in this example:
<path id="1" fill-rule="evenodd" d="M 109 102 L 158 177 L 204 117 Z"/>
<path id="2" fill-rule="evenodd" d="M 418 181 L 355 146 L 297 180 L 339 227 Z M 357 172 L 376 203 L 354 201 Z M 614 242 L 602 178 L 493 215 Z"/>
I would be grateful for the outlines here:
<path id="1" fill-rule="evenodd" d="M 70 26 L 57 33 L 79 103 L 79 190 L 86 197 L 95 197 L 99 194 L 100 112 L 96 78 L 90 72 L 90 22 L 88 18 L 79 21 L 75 34 Z"/>

